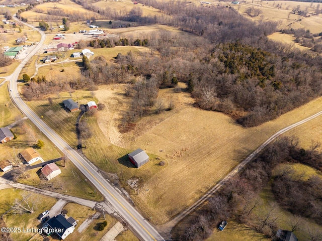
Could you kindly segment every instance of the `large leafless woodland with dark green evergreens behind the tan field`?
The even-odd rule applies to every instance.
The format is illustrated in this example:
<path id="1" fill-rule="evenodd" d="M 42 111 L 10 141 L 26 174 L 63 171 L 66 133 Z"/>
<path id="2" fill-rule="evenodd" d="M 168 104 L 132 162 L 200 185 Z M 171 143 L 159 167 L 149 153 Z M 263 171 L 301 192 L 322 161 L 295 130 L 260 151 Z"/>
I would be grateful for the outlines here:
<path id="1" fill-rule="evenodd" d="M 81 77 L 70 76 L 64 81 L 59 76 L 47 81 L 38 78 L 24 88 L 24 96 L 37 99 L 60 91 L 95 90 L 99 84 L 127 83 L 125 95 L 132 98 L 132 106 L 122 126 L 130 127 L 139 117 L 153 113 L 149 110 L 155 105 L 166 109 L 157 98 L 158 89 L 176 87 L 181 81 L 187 83 L 196 106 L 226 113 L 240 125 L 254 127 L 322 94 L 321 57 L 269 41 L 266 36 L 276 30 L 276 23 L 256 24 L 222 7 L 199 8 L 176 1 L 141 3 L 168 14 L 156 17 L 157 23 L 199 37 L 188 39 L 159 31 L 142 39 L 80 41 L 78 48 L 135 45 L 147 46 L 148 51 L 118 54 L 114 62 L 103 56 L 83 58 Z M 145 84 L 138 88 L 137 82 Z M 141 88 L 151 93 L 144 90 L 138 95 Z"/>

